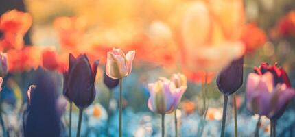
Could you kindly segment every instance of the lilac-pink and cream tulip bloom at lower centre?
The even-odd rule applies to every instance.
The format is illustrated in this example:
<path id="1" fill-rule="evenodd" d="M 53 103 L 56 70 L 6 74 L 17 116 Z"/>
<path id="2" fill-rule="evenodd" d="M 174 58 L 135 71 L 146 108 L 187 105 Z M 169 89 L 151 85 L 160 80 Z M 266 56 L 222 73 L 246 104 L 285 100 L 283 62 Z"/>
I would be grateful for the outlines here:
<path id="1" fill-rule="evenodd" d="M 174 82 L 164 77 L 160 77 L 155 83 L 148 84 L 148 88 L 150 98 L 147 101 L 147 106 L 150 110 L 159 114 L 173 112 L 187 89 L 186 86 L 176 88 Z"/>

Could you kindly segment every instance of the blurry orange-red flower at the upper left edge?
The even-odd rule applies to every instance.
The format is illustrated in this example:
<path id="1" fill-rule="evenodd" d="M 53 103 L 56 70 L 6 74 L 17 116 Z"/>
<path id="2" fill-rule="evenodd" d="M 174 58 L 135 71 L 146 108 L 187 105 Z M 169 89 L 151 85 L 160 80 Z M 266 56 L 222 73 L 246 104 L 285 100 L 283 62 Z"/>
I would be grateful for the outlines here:
<path id="1" fill-rule="evenodd" d="M 5 12 L 0 18 L 0 51 L 21 49 L 23 36 L 32 25 L 32 16 L 18 10 Z"/>

